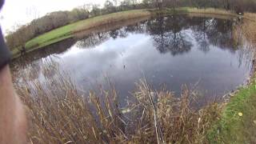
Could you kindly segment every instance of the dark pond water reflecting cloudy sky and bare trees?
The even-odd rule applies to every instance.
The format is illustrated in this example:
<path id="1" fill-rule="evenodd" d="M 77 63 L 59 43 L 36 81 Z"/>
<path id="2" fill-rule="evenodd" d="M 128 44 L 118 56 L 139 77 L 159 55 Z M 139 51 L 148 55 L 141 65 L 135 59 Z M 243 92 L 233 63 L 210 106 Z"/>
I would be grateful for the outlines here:
<path id="1" fill-rule="evenodd" d="M 110 79 L 126 99 L 135 82 L 146 78 L 154 90 L 165 87 L 178 95 L 186 84 L 206 99 L 221 98 L 251 74 L 249 44 L 235 37 L 239 23 L 237 18 L 182 14 L 108 26 L 27 54 L 23 58 L 33 60 L 17 68 L 15 79 L 22 83 L 22 73 L 28 70 L 35 73 L 30 81 L 54 77 L 42 74 L 42 66 L 51 62 L 86 92 L 107 89 Z"/>

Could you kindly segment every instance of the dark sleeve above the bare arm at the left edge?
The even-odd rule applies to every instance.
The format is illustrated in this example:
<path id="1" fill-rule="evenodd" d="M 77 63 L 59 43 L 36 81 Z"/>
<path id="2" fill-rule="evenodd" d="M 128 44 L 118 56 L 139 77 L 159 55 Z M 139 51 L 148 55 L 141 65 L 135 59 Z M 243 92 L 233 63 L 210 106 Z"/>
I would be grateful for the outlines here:
<path id="1" fill-rule="evenodd" d="M 0 29 L 0 70 L 10 62 L 10 51 L 6 46 L 4 38 L 2 36 L 2 30 Z"/>

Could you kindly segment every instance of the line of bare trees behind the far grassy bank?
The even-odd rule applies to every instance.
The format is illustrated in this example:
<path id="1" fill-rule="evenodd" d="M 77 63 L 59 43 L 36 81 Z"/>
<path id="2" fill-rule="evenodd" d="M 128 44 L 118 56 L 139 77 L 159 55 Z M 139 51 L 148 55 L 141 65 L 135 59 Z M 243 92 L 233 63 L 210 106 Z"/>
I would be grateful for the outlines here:
<path id="1" fill-rule="evenodd" d="M 86 4 L 71 11 L 56 11 L 46 14 L 42 18 L 35 18 L 29 24 L 16 26 L 6 36 L 6 43 L 10 49 L 24 47 L 30 39 L 54 30 L 60 26 L 65 26 L 72 22 L 91 18 L 102 14 L 110 14 L 123 10 L 148 9 L 148 8 L 176 8 L 181 6 L 191 6 L 198 8 L 219 8 L 234 10 L 237 13 L 243 11 L 256 11 L 256 1 L 254 0 L 106 0 L 101 8 L 98 5 Z"/>

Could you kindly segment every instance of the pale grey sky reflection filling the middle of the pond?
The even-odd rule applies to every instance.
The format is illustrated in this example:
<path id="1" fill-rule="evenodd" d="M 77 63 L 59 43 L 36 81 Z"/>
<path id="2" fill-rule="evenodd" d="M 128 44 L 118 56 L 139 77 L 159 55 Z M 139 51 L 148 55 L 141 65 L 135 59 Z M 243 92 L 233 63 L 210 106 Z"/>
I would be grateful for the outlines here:
<path id="1" fill-rule="evenodd" d="M 105 76 L 115 82 L 123 96 L 134 90 L 134 82 L 146 75 L 155 89 L 162 83 L 179 93 L 182 84 L 195 84 L 210 95 L 234 90 L 249 74 L 245 64 L 239 66 L 238 51 L 219 49 L 199 50 L 192 30 L 186 30 L 193 46 L 188 53 L 176 56 L 160 54 L 146 34 L 129 34 L 126 38 L 110 38 L 93 49 L 73 46 L 61 58 L 60 67 L 70 72 L 82 88 L 90 89 L 105 82 Z"/>

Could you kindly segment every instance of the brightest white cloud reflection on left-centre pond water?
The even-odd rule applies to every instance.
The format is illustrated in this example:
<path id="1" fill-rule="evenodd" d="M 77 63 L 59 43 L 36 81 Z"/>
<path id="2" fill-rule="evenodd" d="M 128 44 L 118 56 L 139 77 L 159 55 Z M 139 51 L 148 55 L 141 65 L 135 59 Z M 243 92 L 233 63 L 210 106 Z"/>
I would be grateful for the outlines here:
<path id="1" fill-rule="evenodd" d="M 117 41 L 110 39 L 94 49 L 79 49 L 72 47 L 65 54 L 61 54 L 62 69 L 74 70 L 72 75 L 76 79 L 87 79 L 96 81 L 102 79 L 103 75 L 118 78 L 118 70 L 123 70 L 126 65 L 126 57 L 137 53 L 140 42 L 148 40 L 144 34 L 135 34 L 127 38 L 120 38 Z M 135 49 L 134 49 L 135 48 Z M 86 77 L 86 78 L 85 78 Z M 126 77 L 133 77 L 132 74 Z"/>

